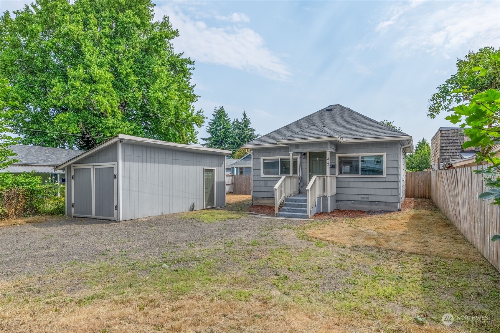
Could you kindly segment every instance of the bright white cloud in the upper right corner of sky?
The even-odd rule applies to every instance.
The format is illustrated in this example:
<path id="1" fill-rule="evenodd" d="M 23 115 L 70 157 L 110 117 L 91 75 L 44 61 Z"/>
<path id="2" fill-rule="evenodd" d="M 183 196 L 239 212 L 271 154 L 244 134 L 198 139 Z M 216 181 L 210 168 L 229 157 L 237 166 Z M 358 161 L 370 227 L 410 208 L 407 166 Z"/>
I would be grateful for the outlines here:
<path id="1" fill-rule="evenodd" d="M 449 57 L 457 51 L 500 45 L 500 6 L 496 1 L 425 3 L 417 9 L 410 3 L 392 11 L 376 30 L 398 33 L 393 45 L 403 52 L 423 50 Z"/>

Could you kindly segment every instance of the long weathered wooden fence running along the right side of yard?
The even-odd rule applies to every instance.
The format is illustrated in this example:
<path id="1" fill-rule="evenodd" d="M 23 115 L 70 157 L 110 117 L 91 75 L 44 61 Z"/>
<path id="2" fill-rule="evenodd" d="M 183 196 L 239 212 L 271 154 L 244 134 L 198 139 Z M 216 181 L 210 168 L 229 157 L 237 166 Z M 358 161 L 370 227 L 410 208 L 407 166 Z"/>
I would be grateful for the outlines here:
<path id="1" fill-rule="evenodd" d="M 431 171 L 432 201 L 500 271 L 500 241 L 490 241 L 494 234 L 500 233 L 500 206 L 490 204 L 492 200 L 477 198 L 487 187 L 482 175 L 472 171 L 482 167 Z"/>

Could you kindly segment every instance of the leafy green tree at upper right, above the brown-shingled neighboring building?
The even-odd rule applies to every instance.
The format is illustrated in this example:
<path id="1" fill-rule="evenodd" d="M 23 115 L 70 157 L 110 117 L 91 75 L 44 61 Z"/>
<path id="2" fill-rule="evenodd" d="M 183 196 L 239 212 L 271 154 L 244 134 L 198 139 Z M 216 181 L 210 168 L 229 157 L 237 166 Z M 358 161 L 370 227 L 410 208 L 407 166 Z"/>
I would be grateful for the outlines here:
<path id="1" fill-rule="evenodd" d="M 477 52 L 470 51 L 463 59 L 456 59 L 456 73 L 451 75 L 429 99 L 427 115 L 435 118 L 440 112 L 451 109 L 457 103 L 468 102 L 464 98 L 462 87 L 479 92 L 487 89 L 499 89 L 500 79 L 495 74 L 490 61 L 490 56 L 497 53 L 494 47 L 483 47 Z M 484 75 L 478 76 L 479 68 L 486 69 Z M 489 70 L 491 69 L 491 70 Z M 469 95 L 470 97 L 470 95 Z"/>

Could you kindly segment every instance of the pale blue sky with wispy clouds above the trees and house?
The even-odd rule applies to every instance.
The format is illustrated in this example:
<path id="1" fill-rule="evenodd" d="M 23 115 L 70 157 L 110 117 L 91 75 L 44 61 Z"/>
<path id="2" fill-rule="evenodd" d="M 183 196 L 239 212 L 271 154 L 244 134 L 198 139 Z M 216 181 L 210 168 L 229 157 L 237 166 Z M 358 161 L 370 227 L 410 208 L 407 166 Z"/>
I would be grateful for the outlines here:
<path id="1" fill-rule="evenodd" d="M 246 110 L 260 134 L 339 103 L 430 140 L 451 125 L 426 110 L 456 58 L 500 46 L 495 1 L 155 3 L 179 30 L 175 49 L 196 61 L 196 107 Z M 0 11 L 22 5 L 2 0 Z"/>

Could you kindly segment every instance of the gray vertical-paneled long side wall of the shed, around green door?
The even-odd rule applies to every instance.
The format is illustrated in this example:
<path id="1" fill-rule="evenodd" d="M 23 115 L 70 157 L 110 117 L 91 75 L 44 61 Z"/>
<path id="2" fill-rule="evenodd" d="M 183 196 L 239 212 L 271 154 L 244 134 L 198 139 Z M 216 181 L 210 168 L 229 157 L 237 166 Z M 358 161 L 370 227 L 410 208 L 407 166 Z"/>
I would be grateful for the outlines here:
<path id="1" fill-rule="evenodd" d="M 204 208 L 204 171 L 215 168 L 215 205 L 225 206 L 224 156 L 121 143 L 122 219 Z"/>

